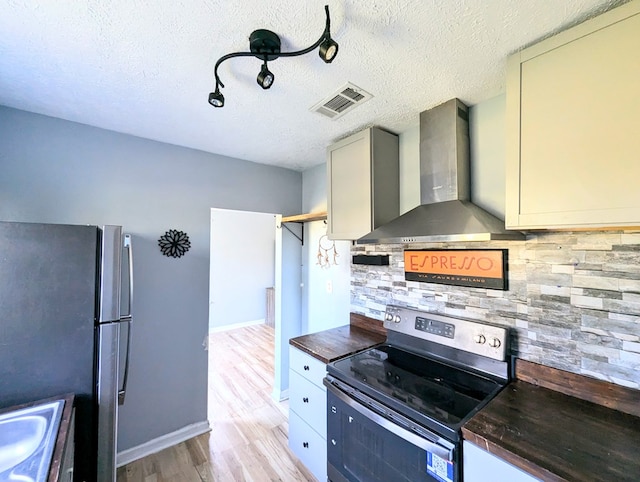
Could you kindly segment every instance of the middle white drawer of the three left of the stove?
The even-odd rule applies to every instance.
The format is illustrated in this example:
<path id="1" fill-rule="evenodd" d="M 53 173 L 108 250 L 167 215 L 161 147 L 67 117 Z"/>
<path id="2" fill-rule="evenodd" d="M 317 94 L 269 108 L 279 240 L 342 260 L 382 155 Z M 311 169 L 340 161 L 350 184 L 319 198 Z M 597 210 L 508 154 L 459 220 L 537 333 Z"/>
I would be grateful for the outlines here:
<path id="1" fill-rule="evenodd" d="M 327 392 L 296 372 L 289 372 L 289 409 L 327 436 Z"/>

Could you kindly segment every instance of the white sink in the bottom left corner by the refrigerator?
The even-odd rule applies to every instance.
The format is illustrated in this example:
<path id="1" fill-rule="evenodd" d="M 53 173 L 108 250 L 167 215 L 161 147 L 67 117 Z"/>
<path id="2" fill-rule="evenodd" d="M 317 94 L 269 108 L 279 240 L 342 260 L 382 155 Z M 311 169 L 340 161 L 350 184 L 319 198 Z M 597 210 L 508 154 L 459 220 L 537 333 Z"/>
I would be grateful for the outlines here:
<path id="1" fill-rule="evenodd" d="M 0 414 L 0 482 L 46 480 L 64 400 Z"/>

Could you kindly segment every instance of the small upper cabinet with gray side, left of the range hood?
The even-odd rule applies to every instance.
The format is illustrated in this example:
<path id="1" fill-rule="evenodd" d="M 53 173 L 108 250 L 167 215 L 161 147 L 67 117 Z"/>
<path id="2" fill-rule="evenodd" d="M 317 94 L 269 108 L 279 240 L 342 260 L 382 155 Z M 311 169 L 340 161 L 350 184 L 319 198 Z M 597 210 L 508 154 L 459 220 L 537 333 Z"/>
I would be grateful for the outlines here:
<path id="1" fill-rule="evenodd" d="M 355 240 L 398 217 L 398 136 L 377 127 L 327 148 L 327 236 Z"/>

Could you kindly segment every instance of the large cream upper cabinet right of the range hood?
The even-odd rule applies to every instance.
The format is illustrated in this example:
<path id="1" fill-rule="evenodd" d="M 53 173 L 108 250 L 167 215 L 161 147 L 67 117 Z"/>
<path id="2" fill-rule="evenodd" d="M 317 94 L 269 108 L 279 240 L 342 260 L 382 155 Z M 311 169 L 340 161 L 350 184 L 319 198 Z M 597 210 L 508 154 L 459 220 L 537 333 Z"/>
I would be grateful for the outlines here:
<path id="1" fill-rule="evenodd" d="M 511 56 L 506 226 L 640 225 L 640 1 Z"/>

